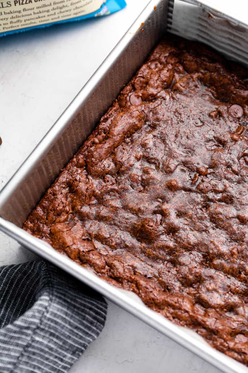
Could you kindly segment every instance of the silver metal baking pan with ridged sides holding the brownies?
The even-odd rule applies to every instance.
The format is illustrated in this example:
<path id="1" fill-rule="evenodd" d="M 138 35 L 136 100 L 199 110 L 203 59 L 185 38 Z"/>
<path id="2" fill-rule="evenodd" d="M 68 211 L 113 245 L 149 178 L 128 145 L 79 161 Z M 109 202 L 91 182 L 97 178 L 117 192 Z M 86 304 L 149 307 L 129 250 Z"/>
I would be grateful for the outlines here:
<path id="1" fill-rule="evenodd" d="M 203 41 L 248 66 L 248 26 L 224 10 L 207 6 L 206 1 L 151 0 L 0 192 L 0 229 L 223 372 L 248 373 L 247 367 L 210 347 L 192 330 L 171 323 L 135 294 L 109 285 L 20 228 L 164 32 Z"/>

